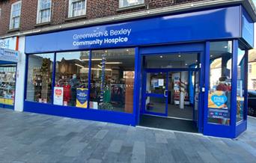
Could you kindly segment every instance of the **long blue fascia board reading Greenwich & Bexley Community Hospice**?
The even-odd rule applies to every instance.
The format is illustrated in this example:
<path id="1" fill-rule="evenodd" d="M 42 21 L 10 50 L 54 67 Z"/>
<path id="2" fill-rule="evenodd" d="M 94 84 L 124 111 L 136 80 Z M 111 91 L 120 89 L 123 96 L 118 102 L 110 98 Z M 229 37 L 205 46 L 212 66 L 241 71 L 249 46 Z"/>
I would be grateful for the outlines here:
<path id="1" fill-rule="evenodd" d="M 240 37 L 240 6 L 28 36 L 25 53 L 142 46 L 232 37 Z"/>

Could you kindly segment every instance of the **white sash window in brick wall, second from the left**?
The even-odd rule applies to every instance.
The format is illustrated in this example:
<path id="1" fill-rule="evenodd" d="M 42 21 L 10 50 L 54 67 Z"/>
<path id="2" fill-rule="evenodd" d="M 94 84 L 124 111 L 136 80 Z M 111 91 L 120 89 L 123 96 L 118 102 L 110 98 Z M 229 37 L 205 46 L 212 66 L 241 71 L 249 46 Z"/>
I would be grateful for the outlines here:
<path id="1" fill-rule="evenodd" d="M 37 23 L 49 22 L 51 19 L 51 0 L 38 0 Z"/>

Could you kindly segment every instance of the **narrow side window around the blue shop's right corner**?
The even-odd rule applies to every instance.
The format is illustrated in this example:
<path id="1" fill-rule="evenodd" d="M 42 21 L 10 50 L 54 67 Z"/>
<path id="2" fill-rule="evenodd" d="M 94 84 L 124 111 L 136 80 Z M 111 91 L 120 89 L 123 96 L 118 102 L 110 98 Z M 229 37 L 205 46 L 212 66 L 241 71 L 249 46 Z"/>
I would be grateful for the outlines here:
<path id="1" fill-rule="evenodd" d="M 238 49 L 237 55 L 237 123 L 243 120 L 244 116 L 244 90 L 245 90 L 245 79 L 246 79 L 246 60 L 245 51 Z"/>

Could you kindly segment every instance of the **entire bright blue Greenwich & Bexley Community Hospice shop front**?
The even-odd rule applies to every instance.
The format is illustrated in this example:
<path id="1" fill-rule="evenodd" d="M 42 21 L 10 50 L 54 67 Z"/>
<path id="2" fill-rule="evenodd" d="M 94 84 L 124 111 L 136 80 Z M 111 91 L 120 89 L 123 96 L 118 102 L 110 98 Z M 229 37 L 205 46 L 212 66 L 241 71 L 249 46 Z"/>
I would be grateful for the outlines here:
<path id="1" fill-rule="evenodd" d="M 253 33 L 238 5 L 28 36 L 24 111 L 131 126 L 153 115 L 235 138 Z"/>

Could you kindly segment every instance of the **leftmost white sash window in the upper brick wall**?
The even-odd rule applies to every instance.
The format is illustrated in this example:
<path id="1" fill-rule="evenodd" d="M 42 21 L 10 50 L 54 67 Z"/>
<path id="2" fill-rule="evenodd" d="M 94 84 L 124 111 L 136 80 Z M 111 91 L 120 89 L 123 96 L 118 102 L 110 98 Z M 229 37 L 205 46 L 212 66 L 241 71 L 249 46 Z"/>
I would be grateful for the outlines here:
<path id="1" fill-rule="evenodd" d="M 20 12 L 21 12 L 21 1 L 17 1 L 11 4 L 10 29 L 19 28 Z"/>

